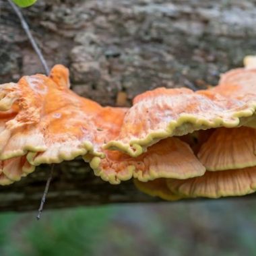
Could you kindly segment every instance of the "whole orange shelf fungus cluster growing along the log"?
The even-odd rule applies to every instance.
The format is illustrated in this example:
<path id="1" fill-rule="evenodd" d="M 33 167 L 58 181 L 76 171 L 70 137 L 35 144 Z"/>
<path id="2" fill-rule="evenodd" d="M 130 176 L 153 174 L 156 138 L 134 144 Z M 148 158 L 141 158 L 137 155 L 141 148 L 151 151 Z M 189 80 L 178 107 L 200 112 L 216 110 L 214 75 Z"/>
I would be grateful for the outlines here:
<path id="1" fill-rule="evenodd" d="M 256 191 L 256 65 L 214 88 L 158 88 L 131 108 L 102 107 L 69 90 L 69 71 L 0 86 L 0 184 L 40 164 L 82 156 L 112 184 L 134 179 L 167 200 Z"/>

